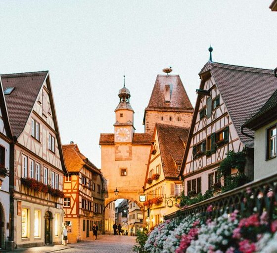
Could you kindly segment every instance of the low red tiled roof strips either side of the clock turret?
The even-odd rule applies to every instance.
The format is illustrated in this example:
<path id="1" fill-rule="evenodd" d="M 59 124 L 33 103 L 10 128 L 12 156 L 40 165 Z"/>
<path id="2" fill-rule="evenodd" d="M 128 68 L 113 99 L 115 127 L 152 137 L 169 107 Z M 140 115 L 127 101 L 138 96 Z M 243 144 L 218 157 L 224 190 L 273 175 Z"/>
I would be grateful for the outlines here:
<path id="1" fill-rule="evenodd" d="M 134 133 L 132 144 L 151 145 L 152 134 Z M 114 133 L 101 133 L 99 145 L 114 145 Z"/>

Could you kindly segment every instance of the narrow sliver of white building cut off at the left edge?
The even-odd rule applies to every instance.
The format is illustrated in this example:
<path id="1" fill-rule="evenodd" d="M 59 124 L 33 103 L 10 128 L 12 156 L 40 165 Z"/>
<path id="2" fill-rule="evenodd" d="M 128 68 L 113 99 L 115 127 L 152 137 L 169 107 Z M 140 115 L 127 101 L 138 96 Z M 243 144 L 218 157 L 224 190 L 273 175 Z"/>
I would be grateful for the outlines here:
<path id="1" fill-rule="evenodd" d="M 12 228 L 9 215 L 9 155 L 12 134 L 0 79 L 0 249 L 10 249 L 5 242 Z"/>

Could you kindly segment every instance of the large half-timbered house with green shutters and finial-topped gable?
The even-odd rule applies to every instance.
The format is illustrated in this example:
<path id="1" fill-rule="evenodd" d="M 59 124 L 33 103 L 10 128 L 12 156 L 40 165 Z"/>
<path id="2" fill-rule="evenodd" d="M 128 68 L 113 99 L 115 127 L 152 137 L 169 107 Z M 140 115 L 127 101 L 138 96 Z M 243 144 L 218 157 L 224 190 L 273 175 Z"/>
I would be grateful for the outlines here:
<path id="1" fill-rule="evenodd" d="M 272 70 L 208 61 L 199 73 L 195 111 L 180 171 L 185 195 L 220 188 L 217 167 L 227 152 L 246 148 L 245 174 L 253 179 L 254 132 L 241 131 L 277 88 Z"/>

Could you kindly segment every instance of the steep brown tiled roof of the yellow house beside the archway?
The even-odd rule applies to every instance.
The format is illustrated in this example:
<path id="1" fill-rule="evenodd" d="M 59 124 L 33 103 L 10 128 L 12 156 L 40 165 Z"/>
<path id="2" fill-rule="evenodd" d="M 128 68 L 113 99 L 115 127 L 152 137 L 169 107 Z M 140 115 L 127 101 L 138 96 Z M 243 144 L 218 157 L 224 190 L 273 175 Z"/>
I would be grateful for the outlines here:
<path id="1" fill-rule="evenodd" d="M 159 148 L 165 177 L 177 177 L 176 164 L 181 165 L 189 128 L 156 124 Z"/>

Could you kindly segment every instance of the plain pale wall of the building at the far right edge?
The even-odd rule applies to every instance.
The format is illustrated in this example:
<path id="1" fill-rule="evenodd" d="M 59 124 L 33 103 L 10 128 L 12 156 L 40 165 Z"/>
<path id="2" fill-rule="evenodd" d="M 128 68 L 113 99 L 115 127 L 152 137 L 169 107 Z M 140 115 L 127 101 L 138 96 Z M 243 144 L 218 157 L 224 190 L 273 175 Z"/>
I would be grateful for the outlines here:
<path id="1" fill-rule="evenodd" d="M 277 173 L 277 158 L 266 160 L 267 137 L 266 129 L 277 124 L 277 120 L 255 131 L 254 147 L 254 179 Z"/>

